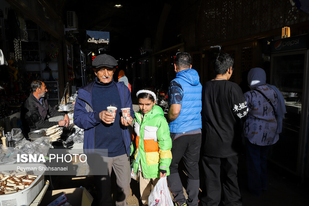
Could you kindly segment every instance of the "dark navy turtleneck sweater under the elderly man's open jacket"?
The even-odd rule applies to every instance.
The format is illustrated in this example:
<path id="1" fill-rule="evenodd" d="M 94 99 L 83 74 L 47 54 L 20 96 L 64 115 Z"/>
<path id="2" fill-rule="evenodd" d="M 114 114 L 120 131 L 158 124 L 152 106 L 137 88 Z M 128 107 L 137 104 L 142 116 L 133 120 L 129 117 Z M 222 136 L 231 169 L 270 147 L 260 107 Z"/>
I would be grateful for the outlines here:
<path id="1" fill-rule="evenodd" d="M 100 113 L 107 110 L 107 107 L 117 107 L 115 122 L 105 124 L 101 121 L 95 126 L 95 149 L 108 149 L 108 157 L 116 157 L 125 154 L 125 145 L 121 130 L 121 101 L 116 85 L 99 83 L 95 78 L 95 85 L 92 88 L 91 98 L 93 111 Z"/>

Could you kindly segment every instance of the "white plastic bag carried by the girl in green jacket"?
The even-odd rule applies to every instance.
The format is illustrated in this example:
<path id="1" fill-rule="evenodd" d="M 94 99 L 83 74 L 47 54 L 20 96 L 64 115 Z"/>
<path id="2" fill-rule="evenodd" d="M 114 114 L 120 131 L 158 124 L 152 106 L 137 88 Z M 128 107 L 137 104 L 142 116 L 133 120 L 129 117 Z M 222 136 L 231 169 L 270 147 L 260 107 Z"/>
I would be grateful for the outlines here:
<path id="1" fill-rule="evenodd" d="M 174 206 L 166 177 L 161 177 L 148 198 L 149 206 Z"/>

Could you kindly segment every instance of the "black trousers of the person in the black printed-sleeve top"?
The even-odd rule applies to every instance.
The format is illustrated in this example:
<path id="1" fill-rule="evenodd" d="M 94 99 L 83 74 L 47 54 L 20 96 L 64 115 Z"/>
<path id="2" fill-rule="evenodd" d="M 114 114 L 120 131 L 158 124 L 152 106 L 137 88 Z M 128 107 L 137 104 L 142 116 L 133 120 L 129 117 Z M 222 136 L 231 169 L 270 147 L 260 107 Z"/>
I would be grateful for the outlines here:
<path id="1" fill-rule="evenodd" d="M 227 158 L 202 157 L 205 182 L 202 189 L 201 202 L 203 206 L 215 206 L 221 200 L 221 185 L 223 187 L 223 205 L 242 205 L 237 182 L 238 155 Z M 220 179 L 220 172 L 222 167 Z"/>

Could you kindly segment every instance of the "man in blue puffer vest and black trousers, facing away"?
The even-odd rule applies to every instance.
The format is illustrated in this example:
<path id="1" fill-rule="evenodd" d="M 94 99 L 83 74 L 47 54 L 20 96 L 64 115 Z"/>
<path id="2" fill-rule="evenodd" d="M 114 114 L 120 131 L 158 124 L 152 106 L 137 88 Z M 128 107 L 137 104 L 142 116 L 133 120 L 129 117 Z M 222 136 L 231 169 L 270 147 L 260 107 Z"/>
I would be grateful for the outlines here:
<path id="1" fill-rule="evenodd" d="M 168 91 L 169 122 L 172 143 L 172 161 L 168 186 L 174 196 L 175 205 L 198 204 L 199 170 L 198 161 L 201 148 L 202 86 L 197 71 L 191 69 L 191 56 L 177 53 L 175 57 L 176 78 L 171 81 Z M 184 197 L 178 163 L 183 159 L 187 177 L 188 200 Z"/>

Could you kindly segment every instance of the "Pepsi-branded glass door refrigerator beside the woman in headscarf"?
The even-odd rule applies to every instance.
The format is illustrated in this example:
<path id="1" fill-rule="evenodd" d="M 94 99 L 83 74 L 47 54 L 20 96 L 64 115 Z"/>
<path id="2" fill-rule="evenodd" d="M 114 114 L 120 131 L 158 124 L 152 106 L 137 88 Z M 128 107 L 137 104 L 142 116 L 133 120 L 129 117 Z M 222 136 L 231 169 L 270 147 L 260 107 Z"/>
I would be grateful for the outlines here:
<path id="1" fill-rule="evenodd" d="M 271 43 L 270 84 L 285 99 L 286 114 L 279 141 L 269 151 L 269 161 L 303 178 L 308 142 L 308 47 L 307 35 Z"/>

